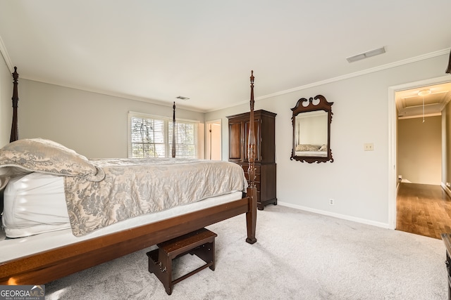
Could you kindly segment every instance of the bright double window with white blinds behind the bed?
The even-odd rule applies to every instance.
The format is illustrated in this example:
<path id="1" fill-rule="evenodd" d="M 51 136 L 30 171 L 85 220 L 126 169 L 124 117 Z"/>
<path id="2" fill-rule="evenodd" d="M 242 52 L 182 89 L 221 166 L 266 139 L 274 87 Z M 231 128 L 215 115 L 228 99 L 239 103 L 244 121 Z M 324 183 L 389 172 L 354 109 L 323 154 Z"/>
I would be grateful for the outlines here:
<path id="1" fill-rule="evenodd" d="M 128 157 L 172 157 L 172 119 L 129 112 L 128 124 Z M 198 122 L 190 120 L 176 120 L 176 157 L 199 157 L 198 125 Z"/>

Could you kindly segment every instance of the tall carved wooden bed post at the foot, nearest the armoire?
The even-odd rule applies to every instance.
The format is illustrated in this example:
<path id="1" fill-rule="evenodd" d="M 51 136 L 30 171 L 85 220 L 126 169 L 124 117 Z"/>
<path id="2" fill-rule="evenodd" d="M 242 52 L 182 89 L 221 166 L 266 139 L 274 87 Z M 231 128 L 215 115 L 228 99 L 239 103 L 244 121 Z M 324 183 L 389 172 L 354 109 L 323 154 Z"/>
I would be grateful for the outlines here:
<path id="1" fill-rule="evenodd" d="M 250 100 L 250 116 L 249 116 L 249 145 L 247 148 L 247 156 L 249 157 L 249 187 L 247 188 L 247 197 L 250 197 L 249 212 L 246 214 L 247 221 L 247 239 L 246 242 L 254 244 L 257 242 L 255 238 L 255 228 L 257 226 L 257 188 L 255 186 L 255 133 L 254 133 L 254 71 L 251 71 L 251 100 Z"/>

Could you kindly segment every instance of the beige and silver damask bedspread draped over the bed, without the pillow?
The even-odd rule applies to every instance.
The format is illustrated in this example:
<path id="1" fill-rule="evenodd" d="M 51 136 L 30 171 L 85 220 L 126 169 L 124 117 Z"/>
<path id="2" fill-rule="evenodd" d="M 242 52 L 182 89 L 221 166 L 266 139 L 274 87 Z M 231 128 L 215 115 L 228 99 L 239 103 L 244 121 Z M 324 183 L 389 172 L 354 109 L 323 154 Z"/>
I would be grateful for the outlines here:
<path id="1" fill-rule="evenodd" d="M 102 181 L 66 176 L 75 236 L 118 221 L 247 188 L 237 164 L 197 159 L 91 159 Z"/>

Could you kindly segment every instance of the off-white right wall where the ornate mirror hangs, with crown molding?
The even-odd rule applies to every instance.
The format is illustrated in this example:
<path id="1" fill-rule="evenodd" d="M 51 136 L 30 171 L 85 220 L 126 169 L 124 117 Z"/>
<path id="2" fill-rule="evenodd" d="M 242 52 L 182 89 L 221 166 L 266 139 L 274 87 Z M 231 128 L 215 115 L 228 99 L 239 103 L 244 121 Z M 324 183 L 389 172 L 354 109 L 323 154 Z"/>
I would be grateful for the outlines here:
<path id="1" fill-rule="evenodd" d="M 388 165 L 389 87 L 443 76 L 446 65 L 447 56 L 439 56 L 257 100 L 256 110 L 277 114 L 277 197 L 280 204 L 389 228 L 388 198 L 392 191 L 388 190 L 388 181 L 390 168 L 394 167 Z M 258 67 L 254 67 L 254 76 L 258 99 Z M 292 161 L 290 108 L 299 98 L 318 94 L 334 103 L 330 128 L 334 162 Z M 248 110 L 249 105 L 243 104 L 206 114 L 206 120 L 223 119 L 223 159 L 228 158 L 226 116 Z M 364 151 L 364 143 L 373 143 L 374 150 Z M 335 205 L 329 204 L 330 198 L 335 200 Z"/>

